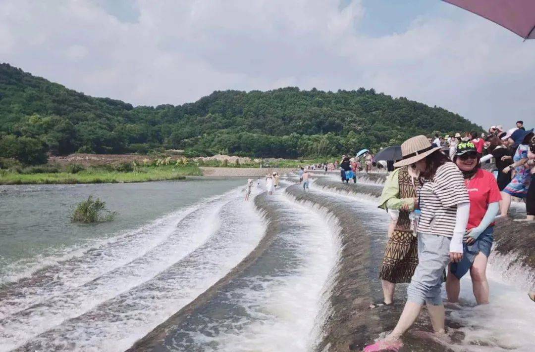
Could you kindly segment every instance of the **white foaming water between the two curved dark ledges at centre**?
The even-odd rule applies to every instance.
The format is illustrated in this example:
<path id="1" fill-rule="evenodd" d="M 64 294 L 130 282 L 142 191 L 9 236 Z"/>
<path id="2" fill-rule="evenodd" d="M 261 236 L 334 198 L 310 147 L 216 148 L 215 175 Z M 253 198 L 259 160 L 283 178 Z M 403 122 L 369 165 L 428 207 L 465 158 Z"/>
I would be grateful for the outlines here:
<path id="1" fill-rule="evenodd" d="M 225 306 L 241 313 L 231 319 L 201 316 L 197 319 L 202 322 L 201 331 L 189 331 L 184 337 L 181 330 L 168 349 L 294 352 L 314 345 L 328 297 L 326 283 L 338 257 L 336 230 L 317 208 L 297 204 L 280 193 L 270 196 L 270 201 L 284 210 L 278 221 L 286 227 L 258 260 L 262 268 L 249 268 L 221 298 Z M 268 268 L 266 263 L 273 266 Z"/>

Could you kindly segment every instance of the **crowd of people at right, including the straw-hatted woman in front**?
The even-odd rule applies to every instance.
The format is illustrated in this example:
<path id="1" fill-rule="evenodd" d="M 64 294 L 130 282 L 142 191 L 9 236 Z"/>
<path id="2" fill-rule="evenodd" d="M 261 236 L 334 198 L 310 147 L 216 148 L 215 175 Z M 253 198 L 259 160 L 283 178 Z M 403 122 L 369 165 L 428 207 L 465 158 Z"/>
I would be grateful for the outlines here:
<path id="1" fill-rule="evenodd" d="M 468 272 L 477 304 L 488 304 L 486 266 L 496 216 L 507 216 L 511 197 L 526 201 L 525 220 L 535 215 L 533 129 L 518 121 L 507 131 L 492 126 L 485 135 L 434 137 L 406 140 L 385 182 L 379 207 L 392 221 L 379 271 L 384 299 L 370 308 L 393 304 L 397 283 L 409 286 L 398 324 L 366 352 L 399 349 L 424 303 L 435 334 L 445 334 L 441 285 L 446 282 L 448 301 L 457 302 Z M 482 167 L 491 159 L 495 172 Z"/>

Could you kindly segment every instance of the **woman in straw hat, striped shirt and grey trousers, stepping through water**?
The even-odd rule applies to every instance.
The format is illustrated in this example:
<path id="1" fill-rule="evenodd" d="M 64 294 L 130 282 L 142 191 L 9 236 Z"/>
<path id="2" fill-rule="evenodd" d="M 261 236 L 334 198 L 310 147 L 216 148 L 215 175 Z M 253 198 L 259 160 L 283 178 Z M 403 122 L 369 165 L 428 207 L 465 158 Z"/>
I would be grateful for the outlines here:
<path id="1" fill-rule="evenodd" d="M 402 160 L 394 166 L 414 165 L 424 179 L 418 192 L 421 213 L 416 224 L 419 262 L 407 288 L 407 302 L 398 324 L 384 340 L 364 348 L 365 352 L 399 349 L 401 336 L 415 322 L 424 303 L 433 330 L 444 334 L 442 272 L 449 262 L 457 263 L 463 256 L 470 199 L 461 171 L 440 152 L 440 147 L 432 147 L 425 136 L 409 138 L 401 145 L 401 152 Z"/>

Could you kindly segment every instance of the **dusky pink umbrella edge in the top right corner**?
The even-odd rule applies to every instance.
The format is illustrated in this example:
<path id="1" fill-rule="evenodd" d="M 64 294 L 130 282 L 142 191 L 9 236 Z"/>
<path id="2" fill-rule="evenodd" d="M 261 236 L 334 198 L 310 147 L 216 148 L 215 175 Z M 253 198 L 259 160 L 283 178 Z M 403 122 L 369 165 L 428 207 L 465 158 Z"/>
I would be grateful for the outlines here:
<path id="1" fill-rule="evenodd" d="M 535 0 L 443 0 L 491 20 L 526 39 L 535 39 Z"/>

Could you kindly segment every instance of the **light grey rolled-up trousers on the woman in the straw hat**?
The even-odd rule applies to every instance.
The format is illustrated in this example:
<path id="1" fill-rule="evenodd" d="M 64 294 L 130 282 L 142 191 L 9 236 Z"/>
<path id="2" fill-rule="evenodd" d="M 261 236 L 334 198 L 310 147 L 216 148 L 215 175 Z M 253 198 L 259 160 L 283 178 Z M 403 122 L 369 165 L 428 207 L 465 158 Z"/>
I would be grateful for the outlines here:
<path id="1" fill-rule="evenodd" d="M 407 301 L 440 306 L 442 273 L 449 263 L 451 239 L 418 232 L 418 266 L 407 288 Z"/>

